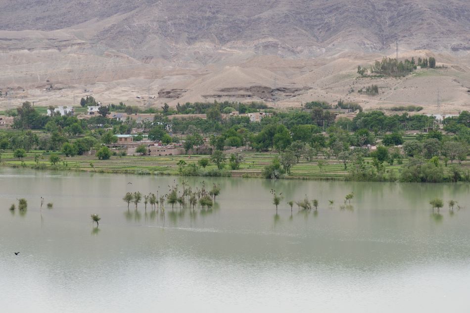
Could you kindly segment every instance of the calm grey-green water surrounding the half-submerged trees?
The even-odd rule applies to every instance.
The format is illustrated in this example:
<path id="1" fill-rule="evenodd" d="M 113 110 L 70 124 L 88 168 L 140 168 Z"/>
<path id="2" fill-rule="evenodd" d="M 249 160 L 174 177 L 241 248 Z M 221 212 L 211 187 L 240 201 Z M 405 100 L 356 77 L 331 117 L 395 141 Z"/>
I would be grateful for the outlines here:
<path id="1" fill-rule="evenodd" d="M 470 311 L 469 184 L 185 179 L 217 183 L 216 205 L 122 200 L 183 178 L 0 169 L 0 311 Z M 291 214 L 306 194 L 318 212 Z M 432 214 L 434 197 L 462 208 Z"/>

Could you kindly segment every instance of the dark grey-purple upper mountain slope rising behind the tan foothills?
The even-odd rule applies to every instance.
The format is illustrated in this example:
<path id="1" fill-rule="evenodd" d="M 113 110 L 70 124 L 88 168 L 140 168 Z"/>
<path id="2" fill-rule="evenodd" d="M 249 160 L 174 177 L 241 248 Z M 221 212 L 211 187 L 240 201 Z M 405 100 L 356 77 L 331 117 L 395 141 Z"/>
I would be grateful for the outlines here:
<path id="1" fill-rule="evenodd" d="M 397 39 L 407 50 L 470 49 L 466 0 L 0 0 L 0 12 L 2 30 L 63 30 L 141 59 L 392 51 Z"/>

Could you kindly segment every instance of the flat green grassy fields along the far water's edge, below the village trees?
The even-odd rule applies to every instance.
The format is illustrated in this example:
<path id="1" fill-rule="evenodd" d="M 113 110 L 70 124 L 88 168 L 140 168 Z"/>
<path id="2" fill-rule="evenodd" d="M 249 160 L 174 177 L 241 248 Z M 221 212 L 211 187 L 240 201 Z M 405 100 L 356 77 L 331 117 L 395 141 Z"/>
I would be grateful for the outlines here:
<path id="1" fill-rule="evenodd" d="M 35 155 L 39 156 L 38 162 Z M 186 164 L 197 163 L 201 158 L 209 158 L 207 155 L 179 155 L 179 156 L 112 156 L 109 160 L 98 160 L 92 156 L 65 157 L 61 155 L 61 161 L 52 166 L 49 162 L 50 153 L 45 151 L 30 151 L 27 157 L 19 160 L 14 158 L 11 151 L 3 152 L 1 165 L 6 167 L 26 167 L 37 169 L 53 169 L 68 171 L 86 171 L 98 173 L 130 173 L 140 175 L 179 175 L 177 163 L 184 160 Z M 261 172 L 266 165 L 272 163 L 278 156 L 277 153 L 246 152 L 245 159 L 239 170 L 230 170 L 228 164 L 225 167 L 227 176 L 232 177 L 261 177 Z M 366 158 L 366 162 L 372 162 Z M 405 159 L 404 164 L 407 162 Z M 92 166 L 93 165 L 93 166 Z M 402 165 L 386 164 L 386 170 L 394 171 L 399 175 Z M 470 162 L 464 162 L 463 167 L 470 168 Z M 216 169 L 210 164 L 206 170 Z M 335 179 L 346 178 L 347 171 L 339 160 L 324 159 L 320 157 L 313 162 L 301 160 L 292 167 L 288 179 Z"/>

